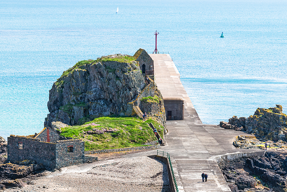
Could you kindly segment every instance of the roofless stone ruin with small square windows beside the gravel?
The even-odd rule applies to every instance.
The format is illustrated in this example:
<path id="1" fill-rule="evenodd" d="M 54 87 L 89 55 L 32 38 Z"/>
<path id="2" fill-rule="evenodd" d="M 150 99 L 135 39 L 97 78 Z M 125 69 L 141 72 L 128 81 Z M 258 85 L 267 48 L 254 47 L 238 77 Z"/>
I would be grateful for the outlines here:
<path id="1" fill-rule="evenodd" d="M 43 163 L 46 168 L 59 169 L 97 161 L 97 157 L 84 155 L 85 143 L 82 139 L 62 137 L 50 127 L 35 135 L 10 135 L 7 142 L 7 160 L 12 163 L 28 159 Z"/>

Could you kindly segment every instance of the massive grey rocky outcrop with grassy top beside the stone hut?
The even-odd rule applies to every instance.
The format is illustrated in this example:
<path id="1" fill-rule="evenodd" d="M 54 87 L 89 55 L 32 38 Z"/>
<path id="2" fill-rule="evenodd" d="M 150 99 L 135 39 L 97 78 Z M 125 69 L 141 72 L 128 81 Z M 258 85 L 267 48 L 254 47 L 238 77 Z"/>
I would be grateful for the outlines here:
<path id="1" fill-rule="evenodd" d="M 108 61 L 111 59 L 123 62 Z M 89 116 L 125 115 L 127 103 L 135 100 L 144 86 L 140 68 L 130 56 L 78 62 L 53 84 L 44 126 L 51 127 L 53 121 L 75 125 Z"/>

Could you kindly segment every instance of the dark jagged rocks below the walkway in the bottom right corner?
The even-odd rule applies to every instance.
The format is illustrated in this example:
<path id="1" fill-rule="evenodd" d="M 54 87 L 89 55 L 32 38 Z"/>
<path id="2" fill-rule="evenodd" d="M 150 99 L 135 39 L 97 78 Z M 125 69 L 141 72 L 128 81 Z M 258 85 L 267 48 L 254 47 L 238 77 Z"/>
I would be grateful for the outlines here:
<path id="1" fill-rule="evenodd" d="M 286 153 L 266 152 L 265 156 L 223 161 L 219 167 L 232 192 L 287 189 Z"/>

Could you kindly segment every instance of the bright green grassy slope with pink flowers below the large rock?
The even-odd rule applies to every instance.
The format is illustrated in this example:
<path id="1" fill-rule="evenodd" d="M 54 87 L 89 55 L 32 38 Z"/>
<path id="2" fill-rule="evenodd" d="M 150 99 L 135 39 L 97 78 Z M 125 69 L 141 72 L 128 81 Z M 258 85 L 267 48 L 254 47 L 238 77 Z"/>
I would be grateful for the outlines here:
<path id="1" fill-rule="evenodd" d="M 96 118 L 80 126 L 61 128 L 60 135 L 82 138 L 85 141 L 85 151 L 136 147 L 156 140 L 152 128 L 146 124 L 150 122 L 163 137 L 163 126 L 153 119 L 143 122 L 134 117 L 111 116 Z"/>

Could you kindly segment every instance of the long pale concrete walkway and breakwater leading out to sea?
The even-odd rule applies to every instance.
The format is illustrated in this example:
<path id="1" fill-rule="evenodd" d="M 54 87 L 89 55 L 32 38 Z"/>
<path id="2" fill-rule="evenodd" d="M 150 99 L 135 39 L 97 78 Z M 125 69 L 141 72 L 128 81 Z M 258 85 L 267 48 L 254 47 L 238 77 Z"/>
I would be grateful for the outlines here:
<path id="1" fill-rule="evenodd" d="M 264 153 L 264 151 L 241 150 L 232 145 L 235 136 L 249 134 L 225 130 L 216 125 L 202 124 L 181 84 L 179 72 L 170 56 L 167 54 L 150 54 L 150 56 L 154 60 L 155 81 L 163 97 L 181 96 L 185 99 L 185 119 L 166 122 L 167 146 L 160 149 L 170 154 L 179 191 L 230 192 L 214 157 L 254 151 Z M 155 151 L 148 151 L 123 157 L 133 158 L 155 154 Z M 202 182 L 202 172 L 208 174 L 206 183 Z"/>

